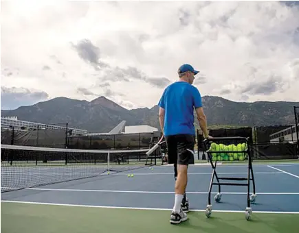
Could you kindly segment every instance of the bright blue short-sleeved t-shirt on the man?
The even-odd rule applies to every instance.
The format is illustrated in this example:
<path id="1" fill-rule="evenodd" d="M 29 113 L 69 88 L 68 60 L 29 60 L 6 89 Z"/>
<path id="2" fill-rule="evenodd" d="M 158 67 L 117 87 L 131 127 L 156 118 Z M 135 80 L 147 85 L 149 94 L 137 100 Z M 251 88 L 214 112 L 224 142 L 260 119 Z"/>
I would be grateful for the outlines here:
<path id="1" fill-rule="evenodd" d="M 165 109 L 164 135 L 195 135 L 194 108 L 202 107 L 199 90 L 188 82 L 175 82 L 165 90 L 158 103 Z"/>

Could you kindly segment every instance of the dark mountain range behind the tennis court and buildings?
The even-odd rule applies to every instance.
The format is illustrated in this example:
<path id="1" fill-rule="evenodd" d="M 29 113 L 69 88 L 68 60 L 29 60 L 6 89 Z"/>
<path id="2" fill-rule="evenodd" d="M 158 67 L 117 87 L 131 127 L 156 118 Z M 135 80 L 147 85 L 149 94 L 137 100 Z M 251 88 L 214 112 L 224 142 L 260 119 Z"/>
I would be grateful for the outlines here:
<path id="1" fill-rule="evenodd" d="M 299 102 L 235 102 L 215 96 L 202 97 L 208 125 L 289 125 L 295 123 L 294 106 Z M 69 122 L 89 132 L 109 132 L 121 121 L 126 125 L 151 125 L 159 129 L 159 107 L 128 110 L 106 97 L 92 101 L 57 97 L 15 110 L 1 110 L 1 116 L 17 116 L 22 121 L 56 124 Z M 195 117 L 195 127 L 199 124 Z"/>

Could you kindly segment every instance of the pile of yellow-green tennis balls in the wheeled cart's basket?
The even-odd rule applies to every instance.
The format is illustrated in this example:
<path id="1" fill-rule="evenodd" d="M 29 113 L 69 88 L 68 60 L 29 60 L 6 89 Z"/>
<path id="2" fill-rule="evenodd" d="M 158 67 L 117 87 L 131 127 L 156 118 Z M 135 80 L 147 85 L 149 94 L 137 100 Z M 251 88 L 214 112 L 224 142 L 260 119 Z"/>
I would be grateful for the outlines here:
<path id="1" fill-rule="evenodd" d="M 210 153 L 212 155 L 213 161 L 236 161 L 236 160 L 245 160 L 247 157 L 247 153 L 239 152 L 239 153 L 232 153 L 225 151 L 247 151 L 247 144 L 246 143 L 239 143 L 238 145 L 230 144 L 230 145 L 223 145 L 217 143 L 211 143 L 210 148 L 207 152 L 217 152 L 221 151 L 221 153 Z"/>

